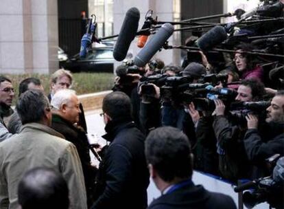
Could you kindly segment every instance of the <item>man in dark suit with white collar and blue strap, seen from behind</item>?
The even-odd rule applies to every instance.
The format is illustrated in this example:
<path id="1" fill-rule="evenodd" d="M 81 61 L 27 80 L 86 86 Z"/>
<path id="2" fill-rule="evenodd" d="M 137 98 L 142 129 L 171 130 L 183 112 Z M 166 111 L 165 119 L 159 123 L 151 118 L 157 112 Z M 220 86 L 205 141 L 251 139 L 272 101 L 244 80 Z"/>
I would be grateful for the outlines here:
<path id="1" fill-rule="evenodd" d="M 162 192 L 149 209 L 236 208 L 231 197 L 193 184 L 193 155 L 182 131 L 169 126 L 151 131 L 145 141 L 145 155 L 150 175 Z"/>

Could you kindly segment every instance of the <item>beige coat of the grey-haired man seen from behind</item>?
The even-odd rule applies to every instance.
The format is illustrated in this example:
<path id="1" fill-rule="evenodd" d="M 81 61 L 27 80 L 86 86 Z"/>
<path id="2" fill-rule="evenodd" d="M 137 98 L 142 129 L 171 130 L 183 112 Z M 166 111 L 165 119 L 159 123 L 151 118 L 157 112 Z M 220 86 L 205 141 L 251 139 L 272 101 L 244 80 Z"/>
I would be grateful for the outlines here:
<path id="1" fill-rule="evenodd" d="M 0 209 L 17 208 L 19 181 L 25 171 L 38 166 L 62 173 L 69 187 L 71 208 L 87 208 L 84 176 L 75 146 L 54 129 L 29 123 L 19 135 L 0 142 Z"/>

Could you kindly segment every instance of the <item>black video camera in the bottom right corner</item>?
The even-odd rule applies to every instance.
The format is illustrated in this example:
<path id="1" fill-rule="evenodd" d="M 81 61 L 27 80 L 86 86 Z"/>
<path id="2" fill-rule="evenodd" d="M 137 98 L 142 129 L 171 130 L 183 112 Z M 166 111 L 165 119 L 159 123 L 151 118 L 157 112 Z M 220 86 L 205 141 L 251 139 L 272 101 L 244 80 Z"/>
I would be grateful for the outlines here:
<path id="1" fill-rule="evenodd" d="M 248 181 L 234 188 L 235 192 L 243 192 L 244 190 L 252 189 L 243 194 L 244 205 L 247 208 L 253 208 L 264 201 L 267 201 L 272 208 L 284 208 L 284 157 L 280 157 L 279 154 L 276 154 L 266 161 L 274 168 L 271 172 L 272 175 Z"/>

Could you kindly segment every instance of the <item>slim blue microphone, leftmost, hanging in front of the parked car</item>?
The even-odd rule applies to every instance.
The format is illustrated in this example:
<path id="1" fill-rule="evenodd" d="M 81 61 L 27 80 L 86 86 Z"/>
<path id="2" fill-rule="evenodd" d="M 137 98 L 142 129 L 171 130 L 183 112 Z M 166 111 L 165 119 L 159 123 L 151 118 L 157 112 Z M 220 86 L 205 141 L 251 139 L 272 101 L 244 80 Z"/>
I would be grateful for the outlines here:
<path id="1" fill-rule="evenodd" d="M 88 20 L 88 25 L 86 33 L 83 35 L 80 47 L 80 58 L 85 58 L 86 54 L 90 50 L 93 34 L 95 33 L 95 28 L 97 28 L 97 23 L 95 23 L 95 15 L 92 15 L 92 19 Z"/>

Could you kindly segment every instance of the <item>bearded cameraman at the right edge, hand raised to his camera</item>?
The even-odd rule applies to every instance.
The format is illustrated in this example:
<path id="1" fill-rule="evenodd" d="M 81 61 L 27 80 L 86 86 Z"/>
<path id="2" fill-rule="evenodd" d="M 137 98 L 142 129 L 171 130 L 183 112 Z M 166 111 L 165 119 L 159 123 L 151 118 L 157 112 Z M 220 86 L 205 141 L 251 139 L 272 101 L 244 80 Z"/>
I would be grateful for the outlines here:
<path id="1" fill-rule="evenodd" d="M 284 91 L 278 91 L 274 98 L 272 98 L 268 111 L 266 122 L 273 127 L 273 131 L 269 131 L 271 138 L 263 139 L 257 131 L 259 124 L 258 118 L 255 115 L 249 114 L 246 116 L 248 121 L 248 131 L 244 136 L 244 147 L 248 160 L 265 172 L 265 159 L 274 155 L 284 155 Z M 262 173 L 267 175 L 268 173 Z"/>

